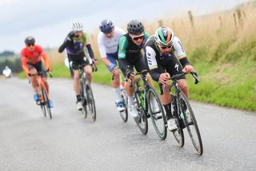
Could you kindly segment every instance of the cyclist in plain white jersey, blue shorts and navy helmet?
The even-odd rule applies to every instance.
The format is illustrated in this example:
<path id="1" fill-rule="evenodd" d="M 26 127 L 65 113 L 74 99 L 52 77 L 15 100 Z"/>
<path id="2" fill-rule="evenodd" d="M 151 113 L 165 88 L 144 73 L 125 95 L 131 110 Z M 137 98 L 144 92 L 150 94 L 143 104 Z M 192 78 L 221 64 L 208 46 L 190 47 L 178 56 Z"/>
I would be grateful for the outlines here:
<path id="1" fill-rule="evenodd" d="M 115 27 L 111 20 L 103 20 L 99 26 L 101 32 L 98 34 L 98 49 L 102 56 L 102 62 L 106 65 L 110 73 L 113 74 L 112 86 L 118 111 L 125 110 L 122 102 L 120 89 L 120 74 L 118 70 L 118 42 L 126 32 Z"/>

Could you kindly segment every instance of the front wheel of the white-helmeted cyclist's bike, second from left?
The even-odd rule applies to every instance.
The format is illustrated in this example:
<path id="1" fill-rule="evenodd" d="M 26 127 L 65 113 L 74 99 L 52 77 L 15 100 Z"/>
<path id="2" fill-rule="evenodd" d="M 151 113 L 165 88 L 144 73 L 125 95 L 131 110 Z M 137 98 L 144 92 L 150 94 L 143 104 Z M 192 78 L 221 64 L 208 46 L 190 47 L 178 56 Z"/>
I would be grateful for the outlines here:
<path id="1" fill-rule="evenodd" d="M 94 101 L 93 90 L 91 89 L 90 84 L 86 84 L 86 94 L 87 94 L 87 105 L 90 112 L 90 117 L 93 121 L 96 121 L 96 106 Z"/>

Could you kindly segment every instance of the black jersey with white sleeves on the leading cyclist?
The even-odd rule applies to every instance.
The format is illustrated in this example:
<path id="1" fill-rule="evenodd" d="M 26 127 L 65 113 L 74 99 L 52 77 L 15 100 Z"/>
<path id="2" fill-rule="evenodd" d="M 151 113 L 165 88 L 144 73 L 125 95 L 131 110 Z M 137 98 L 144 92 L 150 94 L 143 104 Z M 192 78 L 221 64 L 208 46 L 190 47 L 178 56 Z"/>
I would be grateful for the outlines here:
<path id="1" fill-rule="evenodd" d="M 146 61 L 150 69 L 151 77 L 158 81 L 160 74 L 166 70 L 170 75 L 181 74 L 182 67 L 190 64 L 186 58 L 182 42 L 174 36 L 173 47 L 169 54 L 162 54 L 154 42 L 154 35 L 150 36 L 145 45 Z M 176 56 L 174 55 L 176 53 Z M 182 65 L 181 65 L 182 64 Z M 182 79 L 185 77 L 182 77 Z"/>

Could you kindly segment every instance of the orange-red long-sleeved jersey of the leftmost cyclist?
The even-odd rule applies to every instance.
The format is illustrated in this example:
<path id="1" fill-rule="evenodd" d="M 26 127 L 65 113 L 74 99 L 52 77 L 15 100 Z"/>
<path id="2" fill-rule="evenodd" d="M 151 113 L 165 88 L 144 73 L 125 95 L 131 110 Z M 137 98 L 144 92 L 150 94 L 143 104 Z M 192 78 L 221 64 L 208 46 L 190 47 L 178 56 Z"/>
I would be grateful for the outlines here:
<path id="1" fill-rule="evenodd" d="M 41 46 L 34 45 L 34 51 L 28 50 L 27 47 L 22 49 L 22 69 L 25 71 L 26 74 L 29 73 L 29 69 L 27 64 L 34 65 L 38 62 L 42 61 L 42 58 L 45 62 L 46 68 L 50 68 L 50 61 L 46 56 L 46 53 L 42 50 Z"/>

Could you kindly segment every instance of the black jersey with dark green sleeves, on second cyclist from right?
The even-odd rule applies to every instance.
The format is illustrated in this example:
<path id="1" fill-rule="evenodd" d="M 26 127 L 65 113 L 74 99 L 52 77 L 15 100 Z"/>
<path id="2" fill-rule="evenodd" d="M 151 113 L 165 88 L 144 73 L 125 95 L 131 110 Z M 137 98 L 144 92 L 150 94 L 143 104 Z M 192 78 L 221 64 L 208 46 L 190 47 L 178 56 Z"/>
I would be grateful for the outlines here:
<path id="1" fill-rule="evenodd" d="M 129 34 L 125 34 L 120 38 L 118 46 L 118 62 L 122 70 L 122 74 L 126 74 L 126 70 L 133 70 L 133 66 L 137 66 L 136 70 L 146 70 L 145 60 L 142 56 L 142 48 L 146 43 L 149 34 L 144 32 L 144 39 L 140 46 L 136 45 Z M 139 70 L 142 69 L 142 70 Z"/>

